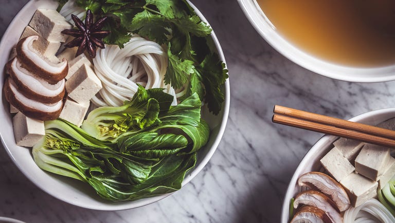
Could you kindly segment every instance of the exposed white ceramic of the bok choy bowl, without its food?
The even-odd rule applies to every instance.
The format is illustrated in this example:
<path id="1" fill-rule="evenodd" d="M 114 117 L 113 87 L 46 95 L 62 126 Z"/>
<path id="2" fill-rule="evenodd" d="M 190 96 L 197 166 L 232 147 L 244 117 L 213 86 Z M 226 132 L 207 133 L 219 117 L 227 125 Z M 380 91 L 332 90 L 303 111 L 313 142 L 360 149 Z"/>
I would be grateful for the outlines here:
<path id="1" fill-rule="evenodd" d="M 191 4 L 191 3 L 190 3 Z M 196 14 L 200 18 L 207 22 L 202 13 L 197 10 L 192 4 L 191 6 L 196 11 Z M 9 25 L 7 31 L 3 35 L 3 39 L 0 43 L 0 80 L 4 80 L 3 67 L 7 63 L 9 52 L 11 48 L 16 44 L 20 38 L 23 30 L 28 25 L 30 18 L 38 8 L 56 9 L 57 3 L 51 0 L 35 0 L 28 2 L 21 11 L 14 17 L 13 21 Z M 214 32 L 211 37 L 216 45 L 218 54 L 223 62 L 225 62 L 224 54 L 222 52 L 220 43 Z M 3 81 L 0 83 L 0 87 L 3 88 Z M 205 147 L 203 147 L 197 154 L 196 166 L 187 173 L 183 181 L 183 186 L 187 184 L 193 177 L 195 177 L 207 164 L 212 154 L 216 150 L 222 135 L 225 131 L 225 125 L 229 114 L 229 81 L 225 82 L 223 89 L 225 95 L 225 103 L 218 116 L 213 116 L 207 112 L 202 111 L 203 118 L 209 123 L 211 129 L 210 138 Z M 12 161 L 22 171 L 22 173 L 36 184 L 43 191 L 48 194 L 71 203 L 73 205 L 95 209 L 95 210 L 124 210 L 141 207 L 148 205 L 149 203 L 163 199 L 170 194 L 160 195 L 151 198 L 140 199 L 136 201 L 123 201 L 123 202 L 110 202 L 101 199 L 87 184 L 66 178 L 63 176 L 54 175 L 41 170 L 33 161 L 31 151 L 29 148 L 20 147 L 15 145 L 12 120 L 9 113 L 8 102 L 3 97 L 3 91 L 0 92 L 0 96 L 3 100 L 3 106 L 0 106 L 0 117 L 2 117 L 2 127 L 0 128 L 0 135 L 2 143 L 7 153 L 10 155 Z"/>

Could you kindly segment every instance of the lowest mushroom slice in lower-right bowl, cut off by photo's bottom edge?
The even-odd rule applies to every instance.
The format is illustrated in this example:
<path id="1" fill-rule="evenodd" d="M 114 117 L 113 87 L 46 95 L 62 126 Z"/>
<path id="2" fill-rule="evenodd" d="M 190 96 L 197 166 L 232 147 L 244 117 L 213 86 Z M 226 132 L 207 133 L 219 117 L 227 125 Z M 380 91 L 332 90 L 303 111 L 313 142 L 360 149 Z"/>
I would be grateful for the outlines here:
<path id="1" fill-rule="evenodd" d="M 305 223 L 305 222 L 332 223 L 332 220 L 321 209 L 306 205 L 301 207 L 296 212 L 290 223 Z"/>

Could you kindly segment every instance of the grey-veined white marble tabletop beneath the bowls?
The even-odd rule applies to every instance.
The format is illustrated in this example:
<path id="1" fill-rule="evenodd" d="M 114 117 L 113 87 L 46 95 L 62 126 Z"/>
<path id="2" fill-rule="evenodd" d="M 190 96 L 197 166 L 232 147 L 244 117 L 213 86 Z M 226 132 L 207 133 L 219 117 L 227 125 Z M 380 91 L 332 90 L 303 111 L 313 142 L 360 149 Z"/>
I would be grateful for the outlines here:
<path id="1" fill-rule="evenodd" d="M 0 35 L 25 2 L 0 0 Z M 192 2 L 216 32 L 230 70 L 228 125 L 204 170 L 152 205 L 93 211 L 45 194 L 0 148 L 0 216 L 26 222 L 279 222 L 288 182 L 322 134 L 273 124 L 273 106 L 346 119 L 395 106 L 394 82 L 335 81 L 284 58 L 260 38 L 236 0 Z"/>

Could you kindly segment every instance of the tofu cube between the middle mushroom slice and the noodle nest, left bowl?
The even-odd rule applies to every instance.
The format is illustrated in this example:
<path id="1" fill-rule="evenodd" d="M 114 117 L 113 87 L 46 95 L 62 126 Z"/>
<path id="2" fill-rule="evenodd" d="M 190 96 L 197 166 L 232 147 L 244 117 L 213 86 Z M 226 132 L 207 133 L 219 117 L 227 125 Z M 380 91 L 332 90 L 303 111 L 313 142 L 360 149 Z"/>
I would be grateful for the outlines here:
<path id="1" fill-rule="evenodd" d="M 66 81 L 68 97 L 81 104 L 91 100 L 101 88 L 101 81 L 86 64 Z"/>

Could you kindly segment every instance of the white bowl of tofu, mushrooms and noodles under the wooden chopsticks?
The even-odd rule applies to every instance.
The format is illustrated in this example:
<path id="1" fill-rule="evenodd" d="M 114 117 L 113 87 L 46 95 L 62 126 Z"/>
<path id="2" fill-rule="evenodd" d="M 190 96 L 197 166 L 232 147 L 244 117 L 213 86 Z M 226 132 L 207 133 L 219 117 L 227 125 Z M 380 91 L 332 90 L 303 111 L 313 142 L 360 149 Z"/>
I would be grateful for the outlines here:
<path id="1" fill-rule="evenodd" d="M 350 121 L 394 130 L 395 108 L 374 110 Z M 389 184 L 395 175 L 393 151 L 325 135 L 296 169 L 284 196 L 281 222 L 348 223 L 361 217 L 395 222 L 393 205 L 386 197 L 391 195 Z M 342 196 L 345 202 L 340 201 Z"/>

